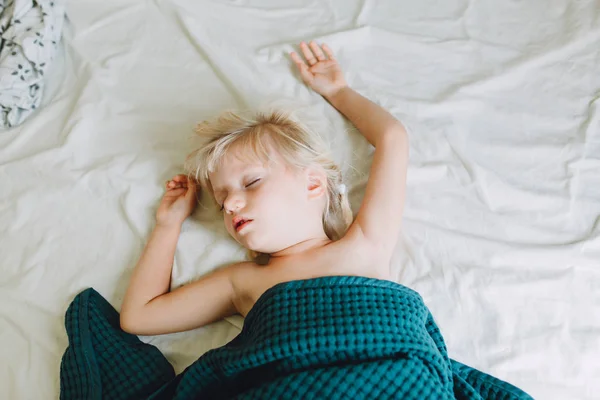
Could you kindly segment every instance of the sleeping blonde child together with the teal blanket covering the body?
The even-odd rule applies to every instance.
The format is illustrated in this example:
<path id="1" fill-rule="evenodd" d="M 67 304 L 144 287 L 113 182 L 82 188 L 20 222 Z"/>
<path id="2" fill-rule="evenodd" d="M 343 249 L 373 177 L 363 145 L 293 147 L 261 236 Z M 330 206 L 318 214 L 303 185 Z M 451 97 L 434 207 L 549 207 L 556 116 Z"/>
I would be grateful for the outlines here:
<path id="1" fill-rule="evenodd" d="M 529 399 L 451 360 L 421 297 L 392 281 L 406 191 L 403 124 L 344 79 L 325 44 L 291 53 L 302 80 L 374 146 L 353 217 L 319 134 L 283 111 L 222 114 L 166 183 L 120 315 L 93 289 L 67 311 L 63 398 Z M 251 261 L 170 290 L 184 220 L 202 190 Z M 242 332 L 175 376 L 135 335 L 245 317 Z"/>

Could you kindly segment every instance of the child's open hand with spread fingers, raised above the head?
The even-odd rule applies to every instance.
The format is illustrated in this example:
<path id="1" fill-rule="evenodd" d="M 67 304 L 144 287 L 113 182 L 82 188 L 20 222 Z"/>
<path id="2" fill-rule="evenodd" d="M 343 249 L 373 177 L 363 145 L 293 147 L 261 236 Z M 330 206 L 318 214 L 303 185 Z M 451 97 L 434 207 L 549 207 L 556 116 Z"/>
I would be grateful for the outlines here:
<path id="1" fill-rule="evenodd" d="M 328 98 L 347 87 L 348 84 L 329 46 L 323 44 L 322 47 L 323 50 L 314 41 L 310 42 L 310 47 L 304 42 L 300 43 L 306 62 L 296 52 L 291 52 L 290 55 L 300 70 L 302 80 L 315 92 Z M 323 51 L 329 59 L 325 57 Z"/>

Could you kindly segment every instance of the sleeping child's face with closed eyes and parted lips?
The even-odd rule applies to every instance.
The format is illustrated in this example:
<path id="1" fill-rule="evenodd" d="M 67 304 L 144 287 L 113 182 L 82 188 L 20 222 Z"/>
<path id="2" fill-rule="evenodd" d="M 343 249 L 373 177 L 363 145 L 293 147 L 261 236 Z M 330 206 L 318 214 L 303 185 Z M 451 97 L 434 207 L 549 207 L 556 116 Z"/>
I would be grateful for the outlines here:
<path id="1" fill-rule="evenodd" d="M 231 150 L 209 178 L 229 234 L 250 250 L 271 254 L 323 235 L 324 203 L 314 201 L 323 198 L 315 196 L 306 171 L 269 150 L 267 163 L 245 161 Z M 236 217 L 251 222 L 236 227 Z"/>

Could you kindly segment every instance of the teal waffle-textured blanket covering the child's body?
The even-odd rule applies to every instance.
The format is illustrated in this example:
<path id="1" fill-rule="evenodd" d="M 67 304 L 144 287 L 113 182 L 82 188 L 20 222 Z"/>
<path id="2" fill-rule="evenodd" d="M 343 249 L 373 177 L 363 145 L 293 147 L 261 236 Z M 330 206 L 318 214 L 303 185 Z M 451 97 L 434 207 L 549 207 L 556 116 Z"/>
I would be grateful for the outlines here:
<path id="1" fill-rule="evenodd" d="M 73 300 L 65 325 L 61 399 L 531 399 L 448 358 L 421 296 L 383 280 L 280 283 L 235 339 L 178 376 L 93 289 Z"/>

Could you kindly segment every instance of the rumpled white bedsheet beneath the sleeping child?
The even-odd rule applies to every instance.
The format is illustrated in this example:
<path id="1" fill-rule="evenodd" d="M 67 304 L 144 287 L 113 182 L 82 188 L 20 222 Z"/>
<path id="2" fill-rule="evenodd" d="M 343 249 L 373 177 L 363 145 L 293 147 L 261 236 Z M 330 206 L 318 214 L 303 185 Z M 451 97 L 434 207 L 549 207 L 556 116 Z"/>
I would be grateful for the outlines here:
<path id="1" fill-rule="evenodd" d="M 0 133 L 0 398 L 58 397 L 63 315 L 120 308 L 194 124 L 292 99 L 360 204 L 371 150 L 294 74 L 325 40 L 410 128 L 393 262 L 464 363 L 540 399 L 600 393 L 599 1 L 83 1 L 67 4 L 43 108 Z M 243 258 L 218 215 L 183 229 L 173 283 Z M 144 338 L 179 372 L 240 319 Z"/>

